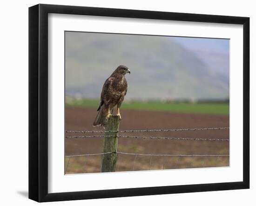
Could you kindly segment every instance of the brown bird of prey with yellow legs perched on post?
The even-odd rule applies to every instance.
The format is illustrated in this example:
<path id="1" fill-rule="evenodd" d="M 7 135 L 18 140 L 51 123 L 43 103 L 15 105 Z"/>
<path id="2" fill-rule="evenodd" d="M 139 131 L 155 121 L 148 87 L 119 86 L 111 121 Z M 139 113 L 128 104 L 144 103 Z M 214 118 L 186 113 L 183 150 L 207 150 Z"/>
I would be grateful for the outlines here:
<path id="1" fill-rule="evenodd" d="M 125 74 L 131 73 L 127 66 L 120 65 L 105 81 L 101 91 L 101 101 L 98 114 L 94 120 L 93 126 L 105 126 L 108 118 L 112 115 L 115 106 L 117 106 L 117 115 L 121 119 L 119 108 L 127 93 L 127 81 Z"/>

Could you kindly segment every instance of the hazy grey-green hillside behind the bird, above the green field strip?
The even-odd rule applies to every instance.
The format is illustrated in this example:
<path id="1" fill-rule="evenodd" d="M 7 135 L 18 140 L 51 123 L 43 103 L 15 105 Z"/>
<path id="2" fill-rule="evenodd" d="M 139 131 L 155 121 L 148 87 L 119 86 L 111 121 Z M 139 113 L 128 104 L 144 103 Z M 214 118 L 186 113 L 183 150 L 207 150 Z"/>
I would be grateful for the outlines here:
<path id="1" fill-rule="evenodd" d="M 127 99 L 227 99 L 229 77 L 169 37 L 66 33 L 66 94 L 99 98 L 104 81 L 126 65 Z"/>

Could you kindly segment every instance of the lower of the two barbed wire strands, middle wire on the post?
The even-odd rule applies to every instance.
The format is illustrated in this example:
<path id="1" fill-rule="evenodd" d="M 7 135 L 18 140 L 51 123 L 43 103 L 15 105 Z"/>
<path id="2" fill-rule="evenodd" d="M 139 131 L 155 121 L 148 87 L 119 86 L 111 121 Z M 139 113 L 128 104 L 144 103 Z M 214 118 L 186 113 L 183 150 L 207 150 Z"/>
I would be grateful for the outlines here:
<path id="1" fill-rule="evenodd" d="M 66 136 L 66 138 L 96 138 L 96 137 L 120 137 L 120 138 L 136 138 L 136 139 L 162 139 L 162 140 L 206 140 L 206 141 L 229 141 L 229 139 L 207 139 L 207 138 L 176 138 L 176 137 L 143 137 L 143 136 L 124 136 L 124 135 L 83 135 L 83 136 Z"/>

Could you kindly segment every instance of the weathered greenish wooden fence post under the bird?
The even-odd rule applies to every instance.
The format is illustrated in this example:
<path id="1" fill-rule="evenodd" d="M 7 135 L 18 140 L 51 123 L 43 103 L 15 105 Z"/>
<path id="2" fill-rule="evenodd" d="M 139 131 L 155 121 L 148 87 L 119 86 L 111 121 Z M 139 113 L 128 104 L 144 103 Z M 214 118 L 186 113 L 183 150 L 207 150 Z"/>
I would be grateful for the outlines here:
<path id="1" fill-rule="evenodd" d="M 105 127 L 105 131 L 119 131 L 119 116 L 110 116 L 108 123 Z M 117 160 L 117 143 L 118 143 L 118 132 L 105 132 L 105 137 L 103 143 L 103 153 L 113 152 L 109 154 L 102 155 L 101 162 L 101 173 L 103 172 L 115 172 L 116 160 Z"/>

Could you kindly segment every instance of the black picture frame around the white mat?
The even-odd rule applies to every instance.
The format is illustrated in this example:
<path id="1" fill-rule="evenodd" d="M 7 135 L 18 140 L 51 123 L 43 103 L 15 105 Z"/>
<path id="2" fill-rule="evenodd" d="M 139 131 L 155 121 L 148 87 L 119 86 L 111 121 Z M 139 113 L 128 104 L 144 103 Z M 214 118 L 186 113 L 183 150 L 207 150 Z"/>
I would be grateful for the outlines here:
<path id="1" fill-rule="evenodd" d="M 48 14 L 80 14 L 243 25 L 243 181 L 48 193 Z M 29 7 L 29 199 L 98 199 L 249 188 L 249 18 L 39 4 Z"/>

